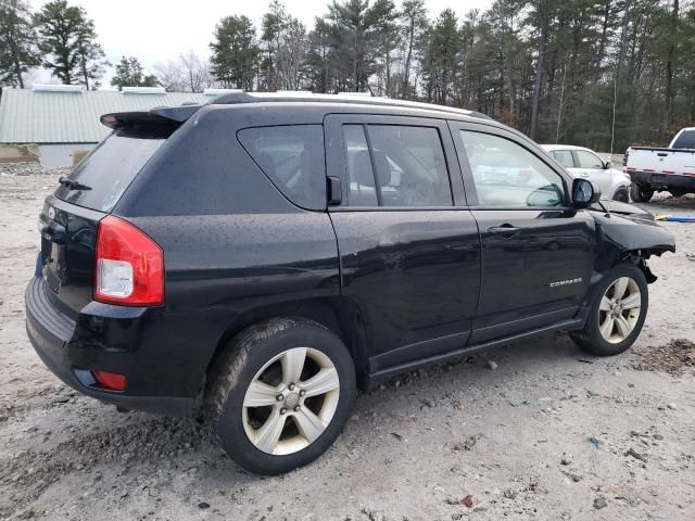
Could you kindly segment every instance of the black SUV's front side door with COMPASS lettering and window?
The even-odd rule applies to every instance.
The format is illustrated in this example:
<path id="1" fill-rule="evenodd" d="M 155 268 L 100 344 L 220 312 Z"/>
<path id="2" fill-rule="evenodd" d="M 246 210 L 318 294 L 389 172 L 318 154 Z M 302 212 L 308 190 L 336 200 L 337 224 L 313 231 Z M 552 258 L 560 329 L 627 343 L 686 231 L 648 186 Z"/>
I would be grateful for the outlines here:
<path id="1" fill-rule="evenodd" d="M 569 179 L 513 132 L 451 127 L 482 237 L 471 343 L 571 320 L 592 275 L 594 219 L 568 206 Z"/>

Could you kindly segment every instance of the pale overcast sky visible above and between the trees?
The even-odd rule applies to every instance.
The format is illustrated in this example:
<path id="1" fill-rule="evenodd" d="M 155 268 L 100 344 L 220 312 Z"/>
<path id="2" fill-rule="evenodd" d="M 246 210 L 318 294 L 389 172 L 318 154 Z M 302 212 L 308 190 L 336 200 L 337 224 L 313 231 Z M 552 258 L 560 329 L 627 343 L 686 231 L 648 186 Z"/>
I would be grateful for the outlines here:
<path id="1" fill-rule="evenodd" d="M 430 17 L 446 8 L 463 16 L 471 9 L 486 9 L 493 0 L 426 0 Z M 175 59 L 188 50 L 210 56 L 208 43 L 215 24 L 231 14 L 245 14 L 261 25 L 269 0 L 68 0 L 85 8 L 94 21 L 99 42 L 106 58 L 116 63 L 122 55 L 134 55 L 151 69 L 156 63 Z M 30 0 L 35 10 L 46 0 Z M 285 0 L 287 11 L 311 28 L 314 17 L 327 11 L 328 0 Z M 396 4 L 400 1 L 396 0 Z M 111 71 L 102 82 L 108 86 Z M 39 75 L 37 80 L 48 80 Z"/>

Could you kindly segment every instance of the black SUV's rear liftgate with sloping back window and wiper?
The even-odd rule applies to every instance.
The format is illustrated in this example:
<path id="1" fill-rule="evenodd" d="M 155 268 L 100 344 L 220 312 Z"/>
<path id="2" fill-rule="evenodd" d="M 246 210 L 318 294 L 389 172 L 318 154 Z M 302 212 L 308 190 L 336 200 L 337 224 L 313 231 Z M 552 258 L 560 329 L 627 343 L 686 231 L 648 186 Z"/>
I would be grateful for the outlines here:
<path id="1" fill-rule="evenodd" d="M 46 200 L 39 216 L 37 276 L 47 282 L 52 302 L 70 316 L 76 317 L 92 297 L 99 221 L 170 131 L 162 126 L 114 130 Z"/>

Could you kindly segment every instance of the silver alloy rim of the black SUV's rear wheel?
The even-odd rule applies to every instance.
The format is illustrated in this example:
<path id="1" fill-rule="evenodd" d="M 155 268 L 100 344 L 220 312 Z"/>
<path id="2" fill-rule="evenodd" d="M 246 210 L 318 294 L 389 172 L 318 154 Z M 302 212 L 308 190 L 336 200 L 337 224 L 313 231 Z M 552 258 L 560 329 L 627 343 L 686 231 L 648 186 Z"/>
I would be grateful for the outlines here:
<path id="1" fill-rule="evenodd" d="M 339 395 L 340 379 L 328 356 L 311 347 L 285 351 L 261 368 L 247 390 L 247 436 L 267 454 L 296 453 L 329 425 Z"/>

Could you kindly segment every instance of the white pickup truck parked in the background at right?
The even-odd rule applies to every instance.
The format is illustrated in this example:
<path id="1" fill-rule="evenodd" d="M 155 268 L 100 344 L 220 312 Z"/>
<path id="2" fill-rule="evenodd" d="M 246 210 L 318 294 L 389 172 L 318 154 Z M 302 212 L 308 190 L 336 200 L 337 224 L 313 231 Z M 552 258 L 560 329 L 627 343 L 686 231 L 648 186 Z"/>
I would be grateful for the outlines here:
<path id="1" fill-rule="evenodd" d="M 637 203 L 646 203 L 654 192 L 668 191 L 677 198 L 695 193 L 695 127 L 678 132 L 668 149 L 629 148 L 626 171 L 632 178 L 630 195 Z"/>

